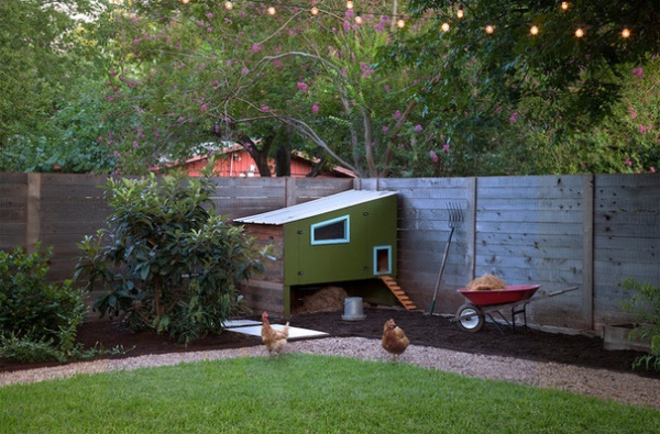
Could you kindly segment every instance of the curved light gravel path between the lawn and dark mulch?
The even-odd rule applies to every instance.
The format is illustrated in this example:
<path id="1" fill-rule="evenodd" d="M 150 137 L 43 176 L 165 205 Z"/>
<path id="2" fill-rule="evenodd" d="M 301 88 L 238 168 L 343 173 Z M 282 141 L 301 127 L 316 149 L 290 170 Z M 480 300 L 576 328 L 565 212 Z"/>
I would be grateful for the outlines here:
<path id="1" fill-rule="evenodd" d="M 263 346 L 197 353 L 173 353 L 123 359 L 95 360 L 43 369 L 0 374 L 0 386 L 46 381 L 78 374 L 129 370 L 142 367 L 176 365 L 198 360 L 265 355 Z M 327 337 L 289 342 L 286 353 L 326 354 L 366 360 L 389 360 L 377 340 L 364 337 Z M 402 363 L 457 372 L 532 385 L 547 389 L 568 390 L 585 396 L 613 399 L 618 402 L 660 410 L 660 380 L 632 374 L 582 368 L 556 363 L 539 363 L 509 357 L 484 356 L 448 349 L 410 345 Z"/>

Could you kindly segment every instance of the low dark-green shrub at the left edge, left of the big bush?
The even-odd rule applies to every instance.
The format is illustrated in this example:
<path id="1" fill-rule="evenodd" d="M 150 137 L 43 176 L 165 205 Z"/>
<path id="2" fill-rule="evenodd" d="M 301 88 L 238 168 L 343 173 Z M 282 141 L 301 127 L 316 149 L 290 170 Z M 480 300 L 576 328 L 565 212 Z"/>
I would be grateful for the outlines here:
<path id="1" fill-rule="evenodd" d="M 0 354 L 4 358 L 66 358 L 85 319 L 82 293 L 69 280 L 46 283 L 52 248 L 0 252 Z"/>

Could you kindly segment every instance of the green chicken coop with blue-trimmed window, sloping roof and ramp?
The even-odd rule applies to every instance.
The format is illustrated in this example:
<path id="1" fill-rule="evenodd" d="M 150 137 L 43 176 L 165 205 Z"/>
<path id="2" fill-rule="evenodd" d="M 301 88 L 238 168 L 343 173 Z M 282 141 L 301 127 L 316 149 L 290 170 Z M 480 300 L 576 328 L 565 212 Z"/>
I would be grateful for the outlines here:
<path id="1" fill-rule="evenodd" d="M 415 308 L 394 281 L 395 191 L 348 190 L 234 222 L 258 243 L 272 245 L 263 276 L 241 288 L 251 309 L 288 315 L 295 294 L 326 285 L 341 285 L 365 300 L 387 303 L 394 297 Z"/>

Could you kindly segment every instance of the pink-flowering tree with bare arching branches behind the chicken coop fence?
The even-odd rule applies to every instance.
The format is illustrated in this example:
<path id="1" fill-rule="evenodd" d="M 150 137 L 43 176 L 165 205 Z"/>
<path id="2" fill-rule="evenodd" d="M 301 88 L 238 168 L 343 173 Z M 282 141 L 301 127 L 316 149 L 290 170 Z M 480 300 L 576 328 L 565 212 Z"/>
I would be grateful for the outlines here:
<path id="1" fill-rule="evenodd" d="M 133 1 L 114 11 L 105 96 L 128 124 L 108 132 L 118 158 L 182 158 L 216 141 L 242 145 L 262 176 L 293 147 L 360 176 L 409 175 L 411 159 L 440 167 L 429 151 L 444 156 L 447 144 L 420 104 L 428 68 L 378 56 L 403 31 L 377 2 L 363 4 L 360 24 L 342 1 L 319 3 L 317 15 L 311 7 L 271 15 L 252 2 Z"/>

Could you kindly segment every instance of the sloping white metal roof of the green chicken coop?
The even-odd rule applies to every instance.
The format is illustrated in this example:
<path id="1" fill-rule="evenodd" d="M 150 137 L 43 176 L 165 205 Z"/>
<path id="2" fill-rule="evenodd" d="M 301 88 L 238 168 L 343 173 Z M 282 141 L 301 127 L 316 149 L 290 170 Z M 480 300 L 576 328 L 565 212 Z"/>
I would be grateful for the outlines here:
<path id="1" fill-rule="evenodd" d="M 396 191 L 348 190 L 341 193 L 328 196 L 327 198 L 299 203 L 297 205 L 282 208 L 279 210 L 268 211 L 262 214 L 234 219 L 234 222 L 256 224 L 284 224 L 315 215 L 324 214 L 327 212 L 340 210 L 342 208 L 371 202 L 373 200 L 385 198 L 388 196 L 396 196 Z"/>

